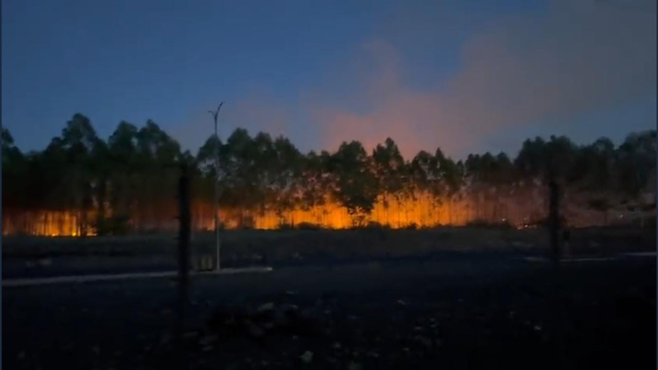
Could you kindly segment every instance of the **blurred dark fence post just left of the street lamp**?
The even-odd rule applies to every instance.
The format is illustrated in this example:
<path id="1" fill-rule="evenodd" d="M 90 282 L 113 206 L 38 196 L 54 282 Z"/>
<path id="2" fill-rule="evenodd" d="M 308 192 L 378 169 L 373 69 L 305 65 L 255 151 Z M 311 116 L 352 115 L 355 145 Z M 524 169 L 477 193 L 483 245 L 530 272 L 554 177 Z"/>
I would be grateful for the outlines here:
<path id="1" fill-rule="evenodd" d="M 178 323 L 176 336 L 181 360 L 184 361 L 182 335 L 185 329 L 185 317 L 187 315 L 188 297 L 190 294 L 190 177 L 188 166 L 181 166 L 180 180 L 178 181 L 178 208 L 180 213 L 178 221 Z"/>

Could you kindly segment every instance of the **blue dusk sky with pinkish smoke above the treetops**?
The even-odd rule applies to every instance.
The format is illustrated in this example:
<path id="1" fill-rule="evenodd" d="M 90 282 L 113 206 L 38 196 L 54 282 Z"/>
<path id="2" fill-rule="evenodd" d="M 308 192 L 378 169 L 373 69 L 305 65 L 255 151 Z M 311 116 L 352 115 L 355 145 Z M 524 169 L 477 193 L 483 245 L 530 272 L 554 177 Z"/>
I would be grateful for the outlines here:
<path id="1" fill-rule="evenodd" d="M 656 127 L 655 0 L 2 2 L 2 124 L 43 149 L 80 112 L 184 149 L 235 127 L 411 158 Z"/>

